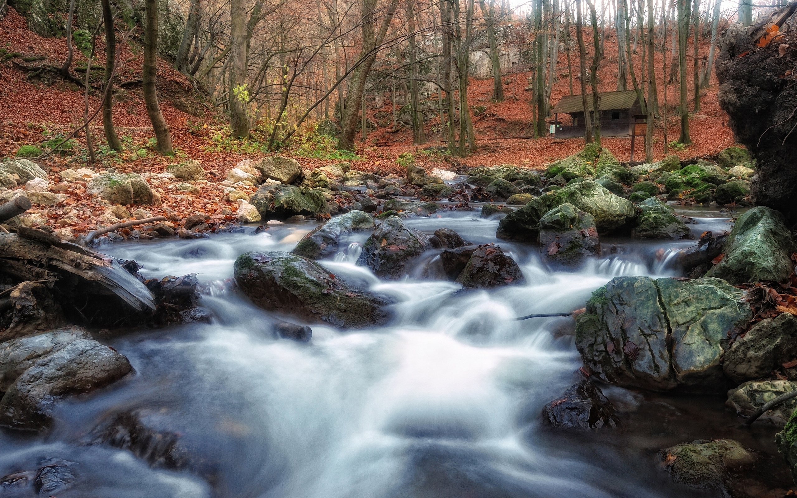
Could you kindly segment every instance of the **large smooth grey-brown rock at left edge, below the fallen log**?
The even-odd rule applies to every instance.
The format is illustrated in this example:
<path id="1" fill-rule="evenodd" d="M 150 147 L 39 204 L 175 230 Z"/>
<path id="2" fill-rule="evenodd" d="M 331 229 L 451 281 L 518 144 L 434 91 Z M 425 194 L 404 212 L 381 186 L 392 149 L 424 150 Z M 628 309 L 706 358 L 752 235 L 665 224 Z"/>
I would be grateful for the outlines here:
<path id="1" fill-rule="evenodd" d="M 65 333 L 76 337 L 66 339 Z M 0 351 L 9 351 L 10 362 L 3 377 L 9 386 L 0 401 L 0 424 L 44 429 L 61 398 L 107 386 L 132 371 L 127 358 L 84 334 L 61 329 L 44 332 L 45 339 L 29 335 L 0 344 Z M 35 358 L 15 353 L 17 350 L 32 351 Z M 26 369 L 12 380 L 22 366 Z"/>

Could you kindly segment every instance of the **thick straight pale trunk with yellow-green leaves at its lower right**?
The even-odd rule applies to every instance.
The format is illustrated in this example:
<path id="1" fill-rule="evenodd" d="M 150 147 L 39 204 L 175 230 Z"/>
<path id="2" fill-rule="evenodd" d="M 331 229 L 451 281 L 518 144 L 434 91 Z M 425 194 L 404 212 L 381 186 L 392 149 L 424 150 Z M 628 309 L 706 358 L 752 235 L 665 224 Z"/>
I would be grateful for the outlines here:
<path id="1" fill-rule="evenodd" d="M 230 127 L 233 136 L 249 136 L 249 88 L 246 84 L 246 2 L 230 0 Z"/>

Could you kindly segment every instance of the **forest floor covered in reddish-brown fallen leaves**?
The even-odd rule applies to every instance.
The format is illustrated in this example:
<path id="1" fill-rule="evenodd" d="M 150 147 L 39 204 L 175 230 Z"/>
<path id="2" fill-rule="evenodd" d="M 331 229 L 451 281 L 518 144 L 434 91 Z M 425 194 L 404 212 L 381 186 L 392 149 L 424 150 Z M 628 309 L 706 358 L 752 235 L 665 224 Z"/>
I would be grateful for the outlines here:
<path id="1" fill-rule="evenodd" d="M 586 37 L 586 36 L 585 36 Z M 586 37 L 587 40 L 591 37 Z M 669 43 L 668 43 L 669 45 Z M 209 182 L 198 183 L 200 192 L 193 196 L 172 194 L 168 190 L 156 189 L 161 194 L 163 205 L 147 206 L 151 214 L 175 213 L 180 218 L 194 213 L 224 215 L 227 219 L 230 210 L 237 209 L 237 204 L 224 199 L 223 189 L 218 182 L 226 178 L 226 174 L 241 161 L 241 159 L 261 159 L 269 155 L 261 151 L 259 143 L 238 142 L 230 139 L 226 121 L 202 95 L 196 91 L 189 80 L 167 61 L 158 62 L 158 89 L 159 103 L 163 115 L 171 131 L 175 155 L 163 156 L 153 149 L 152 129 L 147 111 L 144 106 L 143 96 L 140 91 L 140 72 L 143 57 L 134 44 L 124 44 L 121 47 L 117 74 L 122 83 L 115 88 L 114 121 L 117 134 L 124 145 L 124 151 L 114 153 L 108 151 L 104 145 L 104 132 L 101 116 L 92 122 L 91 131 L 94 135 L 97 148 L 98 163 L 88 164 L 85 135 L 80 134 L 77 144 L 73 147 L 71 155 L 52 155 L 42 162 L 42 167 L 50 173 L 50 182 L 57 182 L 57 173 L 66 168 L 77 169 L 90 167 L 102 171 L 113 167 L 121 173 L 151 172 L 158 174 L 165 171 L 170 163 L 180 163 L 186 159 L 198 159 L 202 166 L 210 173 Z M 53 77 L 52 72 L 43 71 L 40 76 L 33 76 L 23 66 L 53 65 L 60 67 L 67 57 L 64 39 L 44 38 L 29 31 L 26 20 L 21 15 L 9 8 L 6 18 L 0 22 L 0 158 L 12 157 L 19 147 L 24 144 L 40 144 L 53 137 L 69 135 L 84 119 L 86 99 L 83 88 L 77 84 Z M 617 46 L 614 36 L 608 37 L 605 44 L 605 59 L 599 70 L 599 89 L 612 91 L 617 89 Z M 709 52 L 709 41 L 701 42 L 700 55 Z M 104 54 L 104 46 L 98 41 L 96 53 Z M 690 45 L 689 54 L 692 53 Z M 23 57 L 39 56 L 38 61 L 25 61 Z M 575 74 L 578 73 L 578 58 L 571 54 L 575 63 Z M 669 56 L 669 50 L 668 50 Z M 640 56 L 635 59 L 635 65 L 640 66 Z M 662 53 L 656 52 L 655 66 L 658 73 L 658 95 L 663 107 L 663 78 L 662 78 Z M 692 66 L 692 57 L 689 57 L 689 68 Z M 73 58 L 73 72 L 79 65 L 83 66 L 82 76 L 85 74 L 87 58 L 75 49 Z M 93 65 L 104 65 L 104 57 L 99 61 L 95 58 Z M 559 98 L 569 93 L 569 80 L 567 78 L 567 58 L 565 54 L 559 55 L 559 64 L 556 68 L 558 79 L 552 91 L 552 105 Z M 101 71 L 97 72 L 101 75 Z M 574 76 L 575 76 L 574 74 Z M 691 72 L 688 80 L 692 81 Z M 494 103 L 489 100 L 492 93 L 492 79 L 472 79 L 469 86 L 469 100 L 472 107 L 484 105 L 485 112 L 474 116 L 473 124 L 476 131 L 478 149 L 467 158 L 451 158 L 447 155 L 426 155 L 418 158 L 418 163 L 427 167 L 441 167 L 443 169 L 456 169 L 458 165 L 478 166 L 512 163 L 524 167 L 539 168 L 553 160 L 561 159 L 579 151 L 583 147 L 583 139 L 505 139 L 504 135 L 528 135 L 532 120 L 532 107 L 529 101 L 531 92 L 524 91 L 528 85 L 529 72 L 505 73 L 504 91 L 506 100 Z M 574 77 L 575 91 L 579 92 L 579 80 Z M 672 149 L 669 153 L 680 155 L 681 158 L 695 156 L 715 155 L 725 147 L 734 144 L 732 132 L 727 127 L 727 116 L 720 109 L 717 102 L 717 80 L 712 76 L 712 84 L 702 92 L 701 110 L 693 114 L 690 119 L 691 137 L 693 144 L 683 150 Z M 436 99 L 437 96 L 430 98 Z M 677 85 L 669 84 L 667 88 L 667 116 L 668 116 L 668 141 L 677 139 L 680 120 L 676 116 Z M 100 97 L 93 92 L 88 96 L 89 114 L 100 105 Z M 392 112 L 393 104 L 385 99 L 382 108 L 371 108 L 369 116 L 376 112 Z M 691 107 L 691 104 L 690 104 Z M 437 120 L 439 121 L 439 120 Z M 440 141 L 438 133 L 433 133 L 433 127 L 439 123 L 432 120 L 426 123 L 426 136 L 429 139 L 423 145 L 412 144 L 412 128 L 400 127 L 394 131 L 390 127 L 381 127 L 371 131 L 364 143 L 358 143 L 356 156 L 351 160 L 351 167 L 360 171 L 372 171 L 379 174 L 398 173 L 403 175 L 402 168 L 395 163 L 395 159 L 402 152 L 415 152 L 426 147 L 445 146 Z M 435 128 L 437 129 L 437 128 Z M 359 137 L 359 132 L 358 132 Z M 379 143 L 388 143 L 379 147 Z M 302 139 L 295 140 L 292 146 L 281 151 L 282 155 L 294 157 L 306 170 L 324 166 L 329 163 L 340 162 L 341 157 L 336 157 L 334 151 L 327 154 L 326 159 L 305 157 L 302 152 L 303 145 L 311 146 L 312 143 L 303 144 Z M 662 159 L 664 154 L 664 127 L 663 121 L 656 127 L 654 133 L 654 160 Z M 630 158 L 630 138 L 606 138 L 603 146 L 621 161 Z M 304 147 L 306 149 L 306 147 Z M 304 154 L 304 155 L 302 155 Z M 641 137 L 637 140 L 634 159 L 644 159 L 644 145 Z M 251 189 L 253 191 L 254 189 Z M 96 217 L 104 211 L 104 206 L 96 204 L 96 198 L 85 195 L 84 185 L 61 184 L 61 193 L 69 194 L 64 206 L 34 206 L 33 212 L 41 214 L 53 222 L 58 222 L 65 214 L 65 208 L 80 219 L 79 223 L 70 228 L 74 233 L 80 233 L 96 226 Z"/>

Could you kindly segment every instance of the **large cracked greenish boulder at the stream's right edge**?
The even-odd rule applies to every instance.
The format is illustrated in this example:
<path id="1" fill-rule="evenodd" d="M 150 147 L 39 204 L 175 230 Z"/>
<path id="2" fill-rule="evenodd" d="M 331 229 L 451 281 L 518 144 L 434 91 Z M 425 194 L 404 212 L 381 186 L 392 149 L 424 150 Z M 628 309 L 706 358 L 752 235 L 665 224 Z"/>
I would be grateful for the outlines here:
<path id="1" fill-rule="evenodd" d="M 744 291 L 724 280 L 619 276 L 587 301 L 575 345 L 606 382 L 719 392 L 728 331 L 751 316 Z"/>

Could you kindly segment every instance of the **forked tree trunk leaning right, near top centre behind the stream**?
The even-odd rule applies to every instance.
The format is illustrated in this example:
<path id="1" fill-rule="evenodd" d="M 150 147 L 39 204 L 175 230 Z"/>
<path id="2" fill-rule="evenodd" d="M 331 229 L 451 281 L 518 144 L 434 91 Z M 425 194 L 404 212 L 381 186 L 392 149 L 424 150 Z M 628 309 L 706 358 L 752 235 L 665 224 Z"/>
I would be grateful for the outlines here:
<path id="1" fill-rule="evenodd" d="M 363 97 L 363 90 L 365 89 L 365 82 L 368 73 L 371 72 L 371 66 L 376 61 L 376 53 L 378 47 L 382 45 L 387 29 L 395 14 L 398 0 L 391 0 L 391 6 L 385 14 L 382 22 L 382 27 L 379 29 L 379 35 L 374 33 L 375 24 L 375 10 L 376 0 L 363 0 L 362 4 L 362 32 L 363 32 L 363 49 L 357 59 L 358 67 L 351 75 L 351 84 L 349 84 L 348 95 L 346 96 L 346 104 L 344 106 L 343 118 L 341 119 L 340 127 L 340 142 L 338 148 L 340 150 L 353 151 L 354 150 L 354 135 L 357 128 L 357 115 L 359 114 L 360 101 Z"/>

